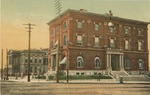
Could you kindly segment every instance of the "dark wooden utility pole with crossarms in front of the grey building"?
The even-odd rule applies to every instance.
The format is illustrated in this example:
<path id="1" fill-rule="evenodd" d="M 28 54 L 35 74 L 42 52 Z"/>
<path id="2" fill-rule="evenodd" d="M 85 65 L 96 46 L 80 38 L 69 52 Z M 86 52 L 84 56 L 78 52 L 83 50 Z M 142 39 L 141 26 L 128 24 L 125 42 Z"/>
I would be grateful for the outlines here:
<path id="1" fill-rule="evenodd" d="M 31 24 L 31 23 L 28 23 L 28 24 L 23 24 L 23 25 L 26 25 L 28 27 L 25 27 L 28 29 L 27 32 L 29 32 L 29 42 L 28 42 L 28 79 L 27 81 L 30 82 L 30 38 L 31 38 L 31 29 L 33 29 L 31 26 L 35 26 L 35 24 Z"/>

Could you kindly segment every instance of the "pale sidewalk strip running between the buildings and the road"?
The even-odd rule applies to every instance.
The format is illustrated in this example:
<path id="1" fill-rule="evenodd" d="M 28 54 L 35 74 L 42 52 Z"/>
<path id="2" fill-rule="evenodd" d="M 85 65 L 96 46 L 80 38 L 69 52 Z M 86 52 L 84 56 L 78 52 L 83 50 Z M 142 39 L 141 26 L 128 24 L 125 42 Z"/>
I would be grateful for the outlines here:
<path id="1" fill-rule="evenodd" d="M 21 79 L 20 77 L 18 79 L 15 79 L 15 77 L 10 77 L 8 81 L 17 81 L 17 82 L 27 82 L 27 76 Z M 56 83 L 54 80 L 48 80 L 45 79 L 32 79 L 30 78 L 30 82 L 47 82 L 47 83 Z M 66 83 L 66 80 L 59 80 L 59 83 Z M 69 80 L 69 83 L 120 83 L 119 80 L 116 79 L 101 79 L 100 81 L 97 81 L 96 79 L 89 79 L 89 80 Z M 123 83 L 148 83 L 150 84 L 150 81 L 123 81 Z"/>

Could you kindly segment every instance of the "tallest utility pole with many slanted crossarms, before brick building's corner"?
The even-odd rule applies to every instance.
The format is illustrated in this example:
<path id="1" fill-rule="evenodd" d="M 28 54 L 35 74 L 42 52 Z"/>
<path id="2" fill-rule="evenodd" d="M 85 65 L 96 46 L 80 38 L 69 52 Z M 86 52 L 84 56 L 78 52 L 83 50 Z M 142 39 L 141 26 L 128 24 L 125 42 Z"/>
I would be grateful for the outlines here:
<path id="1" fill-rule="evenodd" d="M 56 14 L 58 14 L 58 44 L 57 44 L 57 57 L 56 57 L 56 82 L 59 83 L 59 59 L 60 59 L 60 12 L 61 12 L 61 2 L 60 0 L 55 0 Z"/>

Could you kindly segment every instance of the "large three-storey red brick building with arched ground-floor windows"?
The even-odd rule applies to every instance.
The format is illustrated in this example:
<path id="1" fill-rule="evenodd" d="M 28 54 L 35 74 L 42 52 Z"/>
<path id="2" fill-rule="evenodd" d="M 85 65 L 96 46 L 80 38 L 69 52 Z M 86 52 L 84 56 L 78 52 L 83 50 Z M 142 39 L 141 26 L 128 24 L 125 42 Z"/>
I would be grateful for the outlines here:
<path id="1" fill-rule="evenodd" d="M 48 22 L 49 69 L 56 71 L 60 33 L 60 69 L 65 72 L 69 66 L 70 75 L 148 71 L 148 24 L 111 11 L 102 15 L 68 9 Z"/>

